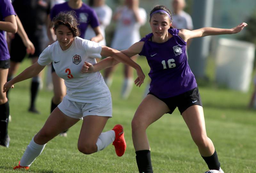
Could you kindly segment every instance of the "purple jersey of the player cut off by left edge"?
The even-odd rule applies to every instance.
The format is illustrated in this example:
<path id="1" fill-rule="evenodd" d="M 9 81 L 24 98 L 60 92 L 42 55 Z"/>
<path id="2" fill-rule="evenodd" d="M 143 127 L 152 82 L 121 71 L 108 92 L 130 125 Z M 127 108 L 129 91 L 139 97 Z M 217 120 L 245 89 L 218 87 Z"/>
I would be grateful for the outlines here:
<path id="1" fill-rule="evenodd" d="M 10 0 L 0 1 L 0 21 L 10 15 L 16 15 Z M 10 54 L 7 47 L 7 42 L 4 36 L 4 31 L 0 29 L 0 60 L 10 59 Z"/>

